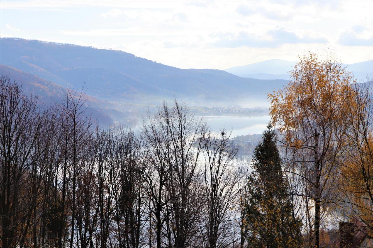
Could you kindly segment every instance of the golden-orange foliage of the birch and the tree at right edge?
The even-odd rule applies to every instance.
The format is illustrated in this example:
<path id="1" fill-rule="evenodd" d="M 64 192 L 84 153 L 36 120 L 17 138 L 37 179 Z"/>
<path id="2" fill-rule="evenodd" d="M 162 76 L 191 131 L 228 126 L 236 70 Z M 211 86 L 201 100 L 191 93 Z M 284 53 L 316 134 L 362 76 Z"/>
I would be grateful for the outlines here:
<path id="1" fill-rule="evenodd" d="M 320 193 L 328 203 L 322 211 L 344 213 L 339 215 L 344 220 L 358 216 L 373 227 L 372 81 L 358 83 L 342 63 L 309 53 L 299 57 L 288 86 L 269 94 L 269 99 L 271 124 L 280 131 L 286 152 L 303 158 L 289 162 L 289 167 L 302 163 L 308 174 L 300 177 L 314 183 L 310 173 L 313 166 L 318 170 L 314 173 L 320 175 L 320 183 L 314 186 L 327 192 Z M 313 164 L 314 153 L 320 168 Z M 289 170 L 301 173 L 302 168 Z"/>

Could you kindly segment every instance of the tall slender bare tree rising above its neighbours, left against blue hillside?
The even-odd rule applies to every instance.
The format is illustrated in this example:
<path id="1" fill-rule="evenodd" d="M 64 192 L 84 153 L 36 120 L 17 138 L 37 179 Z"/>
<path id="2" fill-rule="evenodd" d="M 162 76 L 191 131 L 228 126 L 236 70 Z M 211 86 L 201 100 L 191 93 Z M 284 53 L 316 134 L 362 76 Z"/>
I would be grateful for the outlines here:
<path id="1" fill-rule="evenodd" d="M 90 144 L 92 121 L 85 114 L 85 96 L 81 91 L 68 89 L 63 100 L 58 104 L 61 115 L 60 130 L 62 132 L 61 153 L 63 154 L 62 169 L 59 172 L 60 190 L 62 193 L 60 203 L 60 227 L 59 227 L 59 247 L 65 246 L 63 240 L 63 230 L 66 225 L 66 210 L 71 213 L 69 246 L 72 248 L 79 244 L 78 228 L 75 225 L 77 220 L 78 204 L 78 177 L 81 168 L 85 165 L 86 148 Z M 89 183 L 90 179 L 87 181 Z"/>

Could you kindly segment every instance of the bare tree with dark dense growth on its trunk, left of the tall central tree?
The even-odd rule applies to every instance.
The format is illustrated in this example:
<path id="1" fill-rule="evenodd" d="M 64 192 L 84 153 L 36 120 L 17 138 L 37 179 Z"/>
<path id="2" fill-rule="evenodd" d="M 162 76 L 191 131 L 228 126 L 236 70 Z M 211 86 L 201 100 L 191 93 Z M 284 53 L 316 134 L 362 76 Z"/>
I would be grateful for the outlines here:
<path id="1" fill-rule="evenodd" d="M 141 140 L 131 130 L 120 127 L 115 135 L 115 164 L 117 166 L 115 215 L 121 233 L 120 247 L 140 247 L 143 242 L 143 188 Z M 119 235 L 118 235 L 119 236 Z"/>

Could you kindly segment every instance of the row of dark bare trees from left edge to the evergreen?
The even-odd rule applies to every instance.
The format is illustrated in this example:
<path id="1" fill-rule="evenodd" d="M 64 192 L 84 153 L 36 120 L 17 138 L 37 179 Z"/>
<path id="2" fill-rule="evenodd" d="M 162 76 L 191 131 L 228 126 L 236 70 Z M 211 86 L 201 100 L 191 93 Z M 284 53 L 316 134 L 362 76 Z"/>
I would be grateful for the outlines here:
<path id="1" fill-rule="evenodd" d="M 84 94 L 45 106 L 1 77 L 2 247 L 232 247 L 238 152 L 183 105 L 100 128 Z M 222 131 L 225 132 L 225 131 Z"/>

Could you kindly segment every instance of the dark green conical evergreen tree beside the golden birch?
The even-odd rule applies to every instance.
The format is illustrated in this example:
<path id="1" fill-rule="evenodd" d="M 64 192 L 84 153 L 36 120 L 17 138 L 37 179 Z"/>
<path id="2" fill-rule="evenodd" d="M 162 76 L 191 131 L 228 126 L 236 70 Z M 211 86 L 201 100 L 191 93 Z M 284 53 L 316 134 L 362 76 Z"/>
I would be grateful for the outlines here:
<path id="1" fill-rule="evenodd" d="M 298 247 L 301 223 L 292 211 L 271 128 L 267 126 L 254 150 L 253 171 L 248 176 L 248 247 Z"/>

